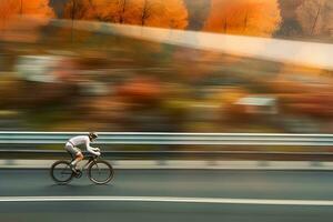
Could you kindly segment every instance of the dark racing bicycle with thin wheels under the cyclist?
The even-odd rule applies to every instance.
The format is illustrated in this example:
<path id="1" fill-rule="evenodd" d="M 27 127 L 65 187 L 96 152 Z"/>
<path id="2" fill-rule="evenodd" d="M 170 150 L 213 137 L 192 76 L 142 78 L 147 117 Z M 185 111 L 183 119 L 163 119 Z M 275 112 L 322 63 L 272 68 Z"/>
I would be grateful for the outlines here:
<path id="1" fill-rule="evenodd" d="M 69 154 L 73 161 L 74 157 Z M 73 178 L 81 178 L 82 171 L 88 167 L 88 178 L 95 184 L 107 184 L 113 179 L 113 168 L 109 162 L 93 154 L 84 154 L 83 160 L 88 160 L 88 162 L 80 170 L 77 169 L 77 173 L 70 168 L 71 161 L 59 160 L 54 162 L 50 170 L 51 178 L 58 184 L 68 184 Z"/>

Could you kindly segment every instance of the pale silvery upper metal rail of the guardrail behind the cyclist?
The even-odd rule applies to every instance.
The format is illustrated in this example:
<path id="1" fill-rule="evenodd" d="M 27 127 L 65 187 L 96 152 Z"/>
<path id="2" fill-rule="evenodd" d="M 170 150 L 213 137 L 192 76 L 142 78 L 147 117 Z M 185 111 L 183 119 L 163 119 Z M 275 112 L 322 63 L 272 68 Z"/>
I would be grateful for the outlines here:
<path id="1" fill-rule="evenodd" d="M 64 144 L 88 132 L 0 131 L 0 144 Z M 333 134 L 100 132 L 97 144 L 331 147 Z"/>

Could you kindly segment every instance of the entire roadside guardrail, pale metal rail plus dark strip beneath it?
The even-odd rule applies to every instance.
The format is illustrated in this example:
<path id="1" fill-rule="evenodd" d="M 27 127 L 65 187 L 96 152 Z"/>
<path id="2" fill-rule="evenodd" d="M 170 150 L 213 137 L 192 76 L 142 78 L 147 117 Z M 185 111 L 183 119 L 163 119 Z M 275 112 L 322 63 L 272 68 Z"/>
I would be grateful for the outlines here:
<path id="1" fill-rule="evenodd" d="M 14 144 L 64 144 L 74 135 L 88 132 L 13 132 L 0 131 L 0 159 L 59 159 L 69 158 L 64 150 L 8 149 Z M 286 147 L 331 147 L 333 134 L 286 134 L 286 133 L 167 133 L 167 132 L 100 132 L 97 144 L 123 145 L 286 145 Z M 332 161 L 333 152 L 272 151 L 255 149 L 242 150 L 203 150 L 172 151 L 159 150 L 105 150 L 103 157 L 111 160 L 168 160 L 168 159 L 201 159 L 201 160 L 306 160 Z M 325 149 L 324 149 L 325 150 Z"/>

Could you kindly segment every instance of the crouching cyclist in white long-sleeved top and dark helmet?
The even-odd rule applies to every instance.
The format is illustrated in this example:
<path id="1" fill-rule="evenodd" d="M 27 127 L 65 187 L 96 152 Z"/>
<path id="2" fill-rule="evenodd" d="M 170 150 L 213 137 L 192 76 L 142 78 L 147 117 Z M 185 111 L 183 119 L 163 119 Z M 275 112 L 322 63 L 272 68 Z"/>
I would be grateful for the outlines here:
<path id="1" fill-rule="evenodd" d="M 70 167 L 73 172 L 78 172 L 75 169 L 75 165 L 78 162 L 83 160 L 83 154 L 78 145 L 85 145 L 85 149 L 88 152 L 94 154 L 94 155 L 100 155 L 100 149 L 99 148 L 92 148 L 90 147 L 90 142 L 94 141 L 98 138 L 98 134 L 95 132 L 90 132 L 88 135 L 77 135 L 71 138 L 64 145 L 64 149 L 69 151 L 75 159 L 71 162 Z"/>

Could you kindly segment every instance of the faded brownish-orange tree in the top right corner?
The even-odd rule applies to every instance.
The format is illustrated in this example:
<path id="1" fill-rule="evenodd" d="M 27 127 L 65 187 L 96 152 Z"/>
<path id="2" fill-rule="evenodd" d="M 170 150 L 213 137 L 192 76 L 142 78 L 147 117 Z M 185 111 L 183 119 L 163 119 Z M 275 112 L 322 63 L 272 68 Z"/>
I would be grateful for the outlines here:
<path id="1" fill-rule="evenodd" d="M 304 33 L 323 36 L 333 30 L 333 1 L 306 0 L 296 9 Z"/>

